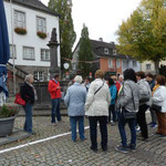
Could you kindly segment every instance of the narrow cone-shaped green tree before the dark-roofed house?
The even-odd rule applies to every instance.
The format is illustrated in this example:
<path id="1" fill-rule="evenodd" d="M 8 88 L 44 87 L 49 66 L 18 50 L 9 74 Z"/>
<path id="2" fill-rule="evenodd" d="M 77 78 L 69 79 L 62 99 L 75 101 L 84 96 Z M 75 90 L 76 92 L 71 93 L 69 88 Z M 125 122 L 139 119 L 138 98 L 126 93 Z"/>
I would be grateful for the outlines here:
<path id="1" fill-rule="evenodd" d="M 79 50 L 79 69 L 82 72 L 83 76 L 89 76 L 90 72 L 92 72 L 92 64 L 85 63 L 85 61 L 92 61 L 92 45 L 89 39 L 89 29 L 83 25 L 81 39 L 80 39 L 80 50 Z"/>

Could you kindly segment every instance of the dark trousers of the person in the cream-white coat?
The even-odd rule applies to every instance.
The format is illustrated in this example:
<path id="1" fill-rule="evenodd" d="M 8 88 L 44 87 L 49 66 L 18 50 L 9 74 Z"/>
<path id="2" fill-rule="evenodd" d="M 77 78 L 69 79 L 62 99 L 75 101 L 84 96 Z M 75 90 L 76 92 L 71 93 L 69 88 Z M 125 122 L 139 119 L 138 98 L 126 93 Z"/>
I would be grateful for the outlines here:
<path id="1" fill-rule="evenodd" d="M 102 148 L 107 147 L 107 116 L 89 116 L 90 121 L 90 137 L 91 137 L 91 148 L 97 149 L 97 122 L 100 123 L 101 131 L 101 145 Z"/>

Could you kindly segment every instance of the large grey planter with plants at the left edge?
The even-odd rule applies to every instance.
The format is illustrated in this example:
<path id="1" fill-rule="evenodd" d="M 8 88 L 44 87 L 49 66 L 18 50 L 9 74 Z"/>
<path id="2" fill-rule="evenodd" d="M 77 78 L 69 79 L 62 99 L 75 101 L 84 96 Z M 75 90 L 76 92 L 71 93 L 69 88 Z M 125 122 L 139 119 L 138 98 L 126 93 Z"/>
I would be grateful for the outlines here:
<path id="1" fill-rule="evenodd" d="M 0 137 L 12 133 L 14 118 L 19 113 L 18 106 L 3 105 L 0 106 Z"/>

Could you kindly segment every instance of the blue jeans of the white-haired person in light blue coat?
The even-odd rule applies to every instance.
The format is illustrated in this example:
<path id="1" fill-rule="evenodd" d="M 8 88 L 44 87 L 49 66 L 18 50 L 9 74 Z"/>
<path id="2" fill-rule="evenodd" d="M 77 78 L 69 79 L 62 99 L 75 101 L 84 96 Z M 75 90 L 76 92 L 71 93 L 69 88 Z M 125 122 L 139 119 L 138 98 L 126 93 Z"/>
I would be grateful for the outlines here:
<path id="1" fill-rule="evenodd" d="M 79 122 L 79 134 L 80 139 L 84 141 L 84 116 L 70 116 L 71 129 L 72 129 L 72 141 L 76 141 L 76 122 Z"/>

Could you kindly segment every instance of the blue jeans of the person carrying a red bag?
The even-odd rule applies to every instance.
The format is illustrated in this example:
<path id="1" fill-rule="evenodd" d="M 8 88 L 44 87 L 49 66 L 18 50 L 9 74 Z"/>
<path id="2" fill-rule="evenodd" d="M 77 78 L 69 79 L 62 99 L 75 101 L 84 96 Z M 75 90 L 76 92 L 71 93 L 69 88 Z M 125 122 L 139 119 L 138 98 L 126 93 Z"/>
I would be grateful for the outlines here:
<path id="1" fill-rule="evenodd" d="M 24 113 L 25 113 L 25 122 L 23 129 L 25 132 L 32 133 L 32 104 L 27 103 L 23 106 Z"/>

